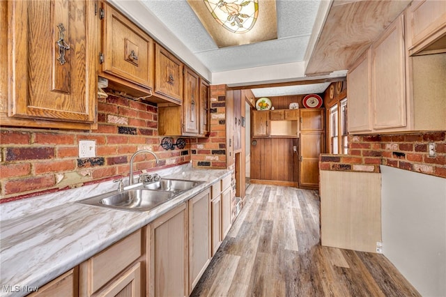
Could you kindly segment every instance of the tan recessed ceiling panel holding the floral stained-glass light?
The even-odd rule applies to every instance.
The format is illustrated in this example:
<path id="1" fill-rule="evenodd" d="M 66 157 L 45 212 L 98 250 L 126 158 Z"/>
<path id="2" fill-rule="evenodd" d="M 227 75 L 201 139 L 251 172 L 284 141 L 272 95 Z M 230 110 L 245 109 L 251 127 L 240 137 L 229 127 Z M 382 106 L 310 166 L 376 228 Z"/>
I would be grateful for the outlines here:
<path id="1" fill-rule="evenodd" d="M 277 39 L 275 0 L 187 0 L 218 47 Z"/>

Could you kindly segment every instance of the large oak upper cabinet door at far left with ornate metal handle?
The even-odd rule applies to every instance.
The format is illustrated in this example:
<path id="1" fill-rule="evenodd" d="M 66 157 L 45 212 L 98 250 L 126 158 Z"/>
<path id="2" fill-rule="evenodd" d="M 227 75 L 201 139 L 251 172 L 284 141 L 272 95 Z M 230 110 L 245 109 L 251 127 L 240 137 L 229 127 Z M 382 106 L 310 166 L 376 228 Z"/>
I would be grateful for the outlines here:
<path id="1" fill-rule="evenodd" d="M 97 1 L 8 2 L 9 116 L 95 122 L 96 5 Z"/>

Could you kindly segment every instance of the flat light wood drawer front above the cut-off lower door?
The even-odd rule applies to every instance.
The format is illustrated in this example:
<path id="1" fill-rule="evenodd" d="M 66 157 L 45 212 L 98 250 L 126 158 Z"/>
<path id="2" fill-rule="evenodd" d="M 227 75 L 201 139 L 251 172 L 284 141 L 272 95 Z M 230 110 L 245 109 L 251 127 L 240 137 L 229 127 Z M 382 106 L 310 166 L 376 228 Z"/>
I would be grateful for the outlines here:
<path id="1" fill-rule="evenodd" d="M 91 257 L 91 288 L 97 291 L 141 256 L 141 229 Z"/>

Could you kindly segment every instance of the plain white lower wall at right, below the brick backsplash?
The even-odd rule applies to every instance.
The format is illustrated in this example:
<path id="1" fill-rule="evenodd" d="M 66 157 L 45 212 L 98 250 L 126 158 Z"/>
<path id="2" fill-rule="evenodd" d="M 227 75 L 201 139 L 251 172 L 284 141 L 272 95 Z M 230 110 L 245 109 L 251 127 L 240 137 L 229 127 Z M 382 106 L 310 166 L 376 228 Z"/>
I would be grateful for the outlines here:
<path id="1" fill-rule="evenodd" d="M 383 254 L 422 296 L 446 296 L 446 178 L 380 169 Z"/>

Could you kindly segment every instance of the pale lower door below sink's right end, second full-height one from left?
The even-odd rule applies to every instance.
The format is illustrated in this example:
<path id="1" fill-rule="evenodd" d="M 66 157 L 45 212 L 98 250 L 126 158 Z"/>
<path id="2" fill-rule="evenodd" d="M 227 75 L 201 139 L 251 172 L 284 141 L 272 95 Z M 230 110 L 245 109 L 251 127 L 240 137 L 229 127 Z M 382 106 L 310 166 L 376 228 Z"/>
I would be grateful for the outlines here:
<path id="1" fill-rule="evenodd" d="M 210 190 L 189 200 L 189 291 L 210 262 Z"/>

